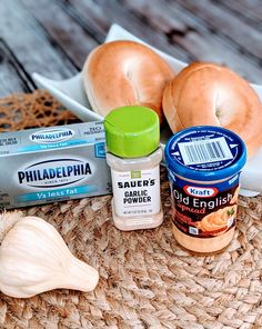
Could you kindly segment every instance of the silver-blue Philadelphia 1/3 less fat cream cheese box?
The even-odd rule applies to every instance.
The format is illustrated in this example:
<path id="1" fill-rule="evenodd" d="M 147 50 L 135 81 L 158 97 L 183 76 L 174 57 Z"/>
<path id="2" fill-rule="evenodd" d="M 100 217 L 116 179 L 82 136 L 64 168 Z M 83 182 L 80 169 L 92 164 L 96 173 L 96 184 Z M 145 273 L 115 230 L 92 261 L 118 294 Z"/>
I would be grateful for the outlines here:
<path id="1" fill-rule="evenodd" d="M 0 207 L 111 192 L 102 121 L 0 133 Z"/>

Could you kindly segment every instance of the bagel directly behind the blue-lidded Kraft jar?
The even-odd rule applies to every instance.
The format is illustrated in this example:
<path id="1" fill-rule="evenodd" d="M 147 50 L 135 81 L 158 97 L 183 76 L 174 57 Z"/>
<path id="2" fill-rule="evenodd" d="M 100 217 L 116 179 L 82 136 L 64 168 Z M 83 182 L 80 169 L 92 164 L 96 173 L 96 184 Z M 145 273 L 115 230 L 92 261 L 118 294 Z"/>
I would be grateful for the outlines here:
<path id="1" fill-rule="evenodd" d="M 252 87 L 230 69 L 192 63 L 168 83 L 163 111 L 173 132 L 221 126 L 238 133 L 252 156 L 262 142 L 262 104 Z"/>

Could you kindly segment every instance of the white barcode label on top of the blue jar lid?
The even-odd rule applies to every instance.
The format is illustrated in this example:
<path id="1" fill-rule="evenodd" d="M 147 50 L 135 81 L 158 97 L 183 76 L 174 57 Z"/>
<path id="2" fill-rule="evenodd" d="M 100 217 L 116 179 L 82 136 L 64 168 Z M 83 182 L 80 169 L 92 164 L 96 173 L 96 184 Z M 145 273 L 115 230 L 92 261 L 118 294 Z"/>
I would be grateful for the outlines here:
<path id="1" fill-rule="evenodd" d="M 208 163 L 233 158 L 224 137 L 181 142 L 179 149 L 184 164 Z"/>

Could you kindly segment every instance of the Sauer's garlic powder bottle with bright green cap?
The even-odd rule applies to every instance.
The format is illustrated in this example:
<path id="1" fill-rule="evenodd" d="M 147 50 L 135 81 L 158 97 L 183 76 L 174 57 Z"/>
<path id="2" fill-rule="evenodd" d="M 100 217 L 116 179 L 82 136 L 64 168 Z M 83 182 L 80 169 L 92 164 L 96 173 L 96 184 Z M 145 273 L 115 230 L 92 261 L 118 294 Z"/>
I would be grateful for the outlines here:
<path id="1" fill-rule="evenodd" d="M 104 130 L 114 226 L 123 231 L 160 226 L 162 149 L 158 114 L 145 107 L 121 107 L 105 117 Z"/>

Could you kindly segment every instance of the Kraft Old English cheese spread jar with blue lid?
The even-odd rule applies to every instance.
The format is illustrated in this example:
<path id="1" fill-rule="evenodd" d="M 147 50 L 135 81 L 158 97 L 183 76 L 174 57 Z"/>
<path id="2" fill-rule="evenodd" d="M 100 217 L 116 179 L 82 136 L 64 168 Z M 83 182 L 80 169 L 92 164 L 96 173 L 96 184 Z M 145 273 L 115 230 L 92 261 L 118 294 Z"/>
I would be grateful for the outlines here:
<path id="1" fill-rule="evenodd" d="M 175 133 L 164 156 L 177 241 L 198 253 L 222 250 L 235 228 L 243 141 L 220 127 L 193 127 Z"/>

